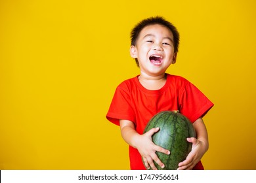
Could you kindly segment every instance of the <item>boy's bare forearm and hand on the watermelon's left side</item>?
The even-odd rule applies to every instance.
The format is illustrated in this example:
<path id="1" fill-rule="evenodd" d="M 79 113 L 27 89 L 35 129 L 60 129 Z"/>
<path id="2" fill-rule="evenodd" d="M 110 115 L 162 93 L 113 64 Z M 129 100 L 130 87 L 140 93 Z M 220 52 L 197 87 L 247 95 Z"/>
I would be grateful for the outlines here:
<path id="1" fill-rule="evenodd" d="M 161 148 L 152 142 L 152 135 L 156 133 L 159 128 L 151 129 L 147 133 L 140 135 L 135 130 L 135 125 L 133 122 L 129 120 L 120 120 L 120 129 L 121 135 L 125 142 L 139 150 L 146 168 L 149 169 L 151 167 L 152 169 L 156 169 L 154 161 L 156 161 L 160 167 L 164 167 L 164 164 L 156 155 L 156 151 L 162 152 L 164 154 L 170 154 L 170 152 L 169 150 L 165 150 L 164 148 Z"/>

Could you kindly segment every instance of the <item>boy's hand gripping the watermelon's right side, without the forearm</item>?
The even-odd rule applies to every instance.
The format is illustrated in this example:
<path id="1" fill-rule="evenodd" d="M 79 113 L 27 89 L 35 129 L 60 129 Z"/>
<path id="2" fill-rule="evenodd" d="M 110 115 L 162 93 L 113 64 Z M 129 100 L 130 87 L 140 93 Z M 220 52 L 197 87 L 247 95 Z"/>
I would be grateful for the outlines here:
<path id="1" fill-rule="evenodd" d="M 193 167 L 200 161 L 205 154 L 207 147 L 203 143 L 194 137 L 190 137 L 186 139 L 188 142 L 192 142 L 192 150 L 186 157 L 184 161 L 179 163 L 178 170 L 191 170 Z"/>

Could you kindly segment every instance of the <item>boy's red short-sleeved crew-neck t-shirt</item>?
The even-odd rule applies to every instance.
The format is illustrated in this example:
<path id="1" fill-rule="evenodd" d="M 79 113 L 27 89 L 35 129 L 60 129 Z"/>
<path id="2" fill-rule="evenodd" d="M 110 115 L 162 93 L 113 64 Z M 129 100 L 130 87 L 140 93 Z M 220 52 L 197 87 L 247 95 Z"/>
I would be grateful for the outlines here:
<path id="1" fill-rule="evenodd" d="M 160 90 L 147 90 L 138 76 L 125 80 L 116 88 L 106 118 L 119 125 L 119 120 L 130 120 L 142 134 L 148 121 L 163 110 L 179 110 L 192 123 L 203 117 L 213 103 L 196 86 L 181 76 L 166 74 Z M 145 169 L 139 151 L 129 146 L 131 169 Z M 194 169 L 203 169 L 201 161 Z"/>

